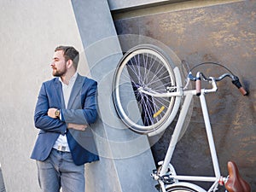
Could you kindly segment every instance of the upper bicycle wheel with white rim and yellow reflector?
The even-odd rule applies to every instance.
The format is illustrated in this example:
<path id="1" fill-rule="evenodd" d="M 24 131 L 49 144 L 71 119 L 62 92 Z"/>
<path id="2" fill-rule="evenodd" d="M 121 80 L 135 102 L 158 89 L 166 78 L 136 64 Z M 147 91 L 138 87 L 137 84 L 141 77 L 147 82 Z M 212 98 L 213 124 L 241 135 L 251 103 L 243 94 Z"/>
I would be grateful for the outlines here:
<path id="1" fill-rule="evenodd" d="M 154 97 L 139 92 L 143 88 L 162 93 L 176 86 L 174 67 L 162 49 L 149 44 L 130 49 L 119 61 L 113 75 L 113 103 L 120 119 L 132 131 L 148 134 L 160 127 L 162 131 L 174 119 L 177 109 L 172 109 L 180 102 L 177 96 Z"/>

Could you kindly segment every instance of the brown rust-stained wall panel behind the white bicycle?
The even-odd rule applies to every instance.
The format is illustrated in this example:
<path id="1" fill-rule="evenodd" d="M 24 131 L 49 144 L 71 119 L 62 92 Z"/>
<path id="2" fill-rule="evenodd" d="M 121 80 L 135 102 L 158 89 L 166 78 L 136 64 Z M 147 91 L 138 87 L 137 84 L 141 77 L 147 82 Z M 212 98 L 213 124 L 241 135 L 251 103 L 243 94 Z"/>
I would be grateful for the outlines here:
<path id="1" fill-rule="evenodd" d="M 207 96 L 207 102 L 221 171 L 226 174 L 227 161 L 236 161 L 252 191 L 256 190 L 255 10 L 255 1 L 188 1 L 113 13 L 119 35 L 148 36 L 166 44 L 190 67 L 215 61 L 240 77 L 250 96 L 241 96 L 230 81 L 224 80 L 216 95 Z M 127 41 L 122 46 L 127 49 Z M 207 75 L 225 72 L 212 65 L 197 69 Z M 194 109 L 172 163 L 181 174 L 211 175 L 212 163 L 197 98 Z M 173 127 L 170 125 L 152 148 L 156 162 L 165 157 Z"/>

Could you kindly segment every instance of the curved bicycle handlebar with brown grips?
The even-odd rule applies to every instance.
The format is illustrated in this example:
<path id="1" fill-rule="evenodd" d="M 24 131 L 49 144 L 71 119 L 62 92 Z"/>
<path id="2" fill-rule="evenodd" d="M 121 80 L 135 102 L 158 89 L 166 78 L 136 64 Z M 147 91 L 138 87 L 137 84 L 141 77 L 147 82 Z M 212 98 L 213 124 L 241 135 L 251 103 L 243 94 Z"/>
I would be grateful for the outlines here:
<path id="1" fill-rule="evenodd" d="M 224 78 L 226 78 L 226 77 L 229 77 L 230 79 L 232 79 L 232 84 L 235 84 L 235 85 L 236 85 L 236 87 L 237 87 L 238 90 L 241 92 L 241 94 L 242 94 L 243 96 L 248 96 L 247 90 L 245 90 L 245 89 L 242 87 L 242 85 L 241 85 L 241 83 L 240 83 L 238 77 L 235 76 L 235 75 L 233 75 L 233 74 L 224 73 L 223 75 L 219 76 L 218 78 L 207 78 L 207 77 L 206 77 L 203 73 L 201 73 L 201 72 L 196 73 L 196 76 L 195 76 L 195 77 L 192 75 L 191 72 L 189 72 L 188 78 L 189 78 L 190 80 L 195 81 L 196 96 L 200 96 L 200 95 L 201 95 L 201 77 L 202 77 L 204 80 L 206 80 L 206 81 L 212 81 L 212 80 L 213 80 L 213 81 L 216 81 L 216 82 L 217 82 L 217 81 L 221 81 L 222 79 L 224 79 Z"/>

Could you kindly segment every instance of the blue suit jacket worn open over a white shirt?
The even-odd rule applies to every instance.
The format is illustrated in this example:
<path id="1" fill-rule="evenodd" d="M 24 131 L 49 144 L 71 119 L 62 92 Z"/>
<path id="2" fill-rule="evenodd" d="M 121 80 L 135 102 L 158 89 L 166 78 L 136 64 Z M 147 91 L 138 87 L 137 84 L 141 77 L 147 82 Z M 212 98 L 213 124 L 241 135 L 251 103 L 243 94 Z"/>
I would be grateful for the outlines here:
<path id="1" fill-rule="evenodd" d="M 78 74 L 70 99 L 65 108 L 61 82 L 58 78 L 42 84 L 34 114 L 35 126 L 40 129 L 32 151 L 34 160 L 46 160 L 60 134 L 67 135 L 67 143 L 76 165 L 99 160 L 93 133 L 67 129 L 67 123 L 90 125 L 96 121 L 96 81 Z M 61 119 L 47 115 L 49 108 L 60 108 Z"/>

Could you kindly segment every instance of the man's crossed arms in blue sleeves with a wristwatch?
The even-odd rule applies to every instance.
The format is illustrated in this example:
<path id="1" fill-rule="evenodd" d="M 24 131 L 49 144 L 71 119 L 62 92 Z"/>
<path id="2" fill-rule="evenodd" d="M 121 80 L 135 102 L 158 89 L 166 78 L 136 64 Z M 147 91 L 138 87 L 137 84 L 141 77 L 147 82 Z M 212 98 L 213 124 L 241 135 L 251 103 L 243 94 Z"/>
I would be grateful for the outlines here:
<path id="1" fill-rule="evenodd" d="M 53 84 L 45 82 L 42 84 L 38 95 L 38 102 L 35 110 L 35 126 L 43 131 L 58 132 L 65 134 L 67 129 L 84 131 L 86 127 L 96 121 L 96 82 L 90 81 L 86 89 L 81 90 L 79 107 L 73 109 L 61 108 L 61 98 L 53 89 Z M 60 94 L 61 96 L 61 94 Z M 59 104 L 58 104 L 59 103 Z M 55 116 L 56 109 L 61 108 L 61 118 Z"/>

